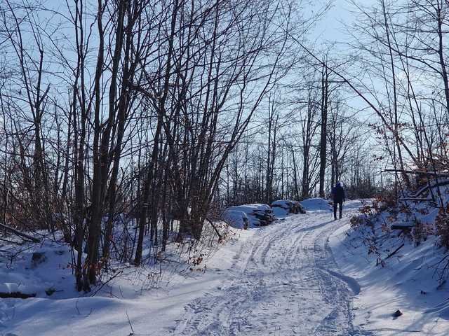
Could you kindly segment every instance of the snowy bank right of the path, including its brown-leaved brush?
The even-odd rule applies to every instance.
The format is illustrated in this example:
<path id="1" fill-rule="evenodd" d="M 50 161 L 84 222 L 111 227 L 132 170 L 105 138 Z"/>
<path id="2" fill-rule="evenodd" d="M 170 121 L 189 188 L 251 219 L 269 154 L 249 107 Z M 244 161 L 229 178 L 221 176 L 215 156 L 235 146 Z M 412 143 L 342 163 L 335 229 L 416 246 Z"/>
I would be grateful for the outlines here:
<path id="1" fill-rule="evenodd" d="M 447 202 L 449 190 L 441 191 Z M 438 209 L 429 202 L 390 204 L 359 203 L 361 213 L 330 239 L 342 272 L 361 286 L 356 323 L 377 335 L 448 335 L 448 251 L 435 235 Z"/>

